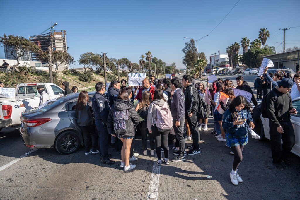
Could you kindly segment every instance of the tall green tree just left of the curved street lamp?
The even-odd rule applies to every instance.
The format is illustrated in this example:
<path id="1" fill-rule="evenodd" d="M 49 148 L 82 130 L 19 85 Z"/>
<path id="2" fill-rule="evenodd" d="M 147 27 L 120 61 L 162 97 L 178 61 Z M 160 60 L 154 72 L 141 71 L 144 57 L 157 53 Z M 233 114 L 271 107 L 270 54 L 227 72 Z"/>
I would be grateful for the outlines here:
<path id="1" fill-rule="evenodd" d="M 185 43 L 184 48 L 182 49 L 184 57 L 182 57 L 182 63 L 191 70 L 191 67 L 197 61 L 197 48 L 195 45 L 195 40 L 191 39 L 189 42 Z"/>

